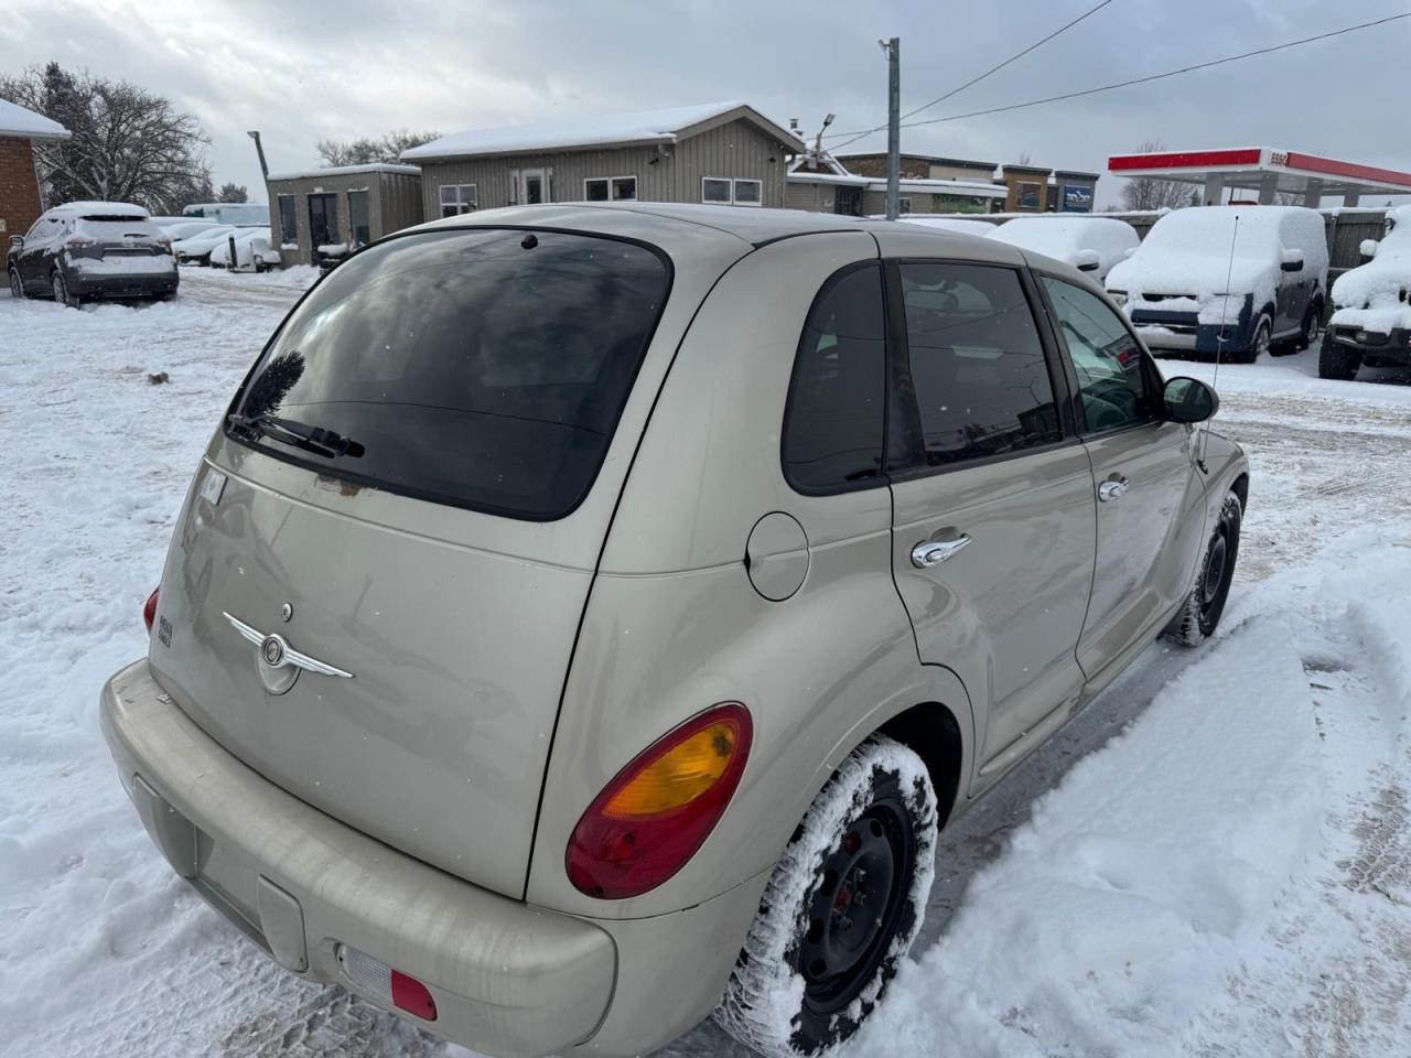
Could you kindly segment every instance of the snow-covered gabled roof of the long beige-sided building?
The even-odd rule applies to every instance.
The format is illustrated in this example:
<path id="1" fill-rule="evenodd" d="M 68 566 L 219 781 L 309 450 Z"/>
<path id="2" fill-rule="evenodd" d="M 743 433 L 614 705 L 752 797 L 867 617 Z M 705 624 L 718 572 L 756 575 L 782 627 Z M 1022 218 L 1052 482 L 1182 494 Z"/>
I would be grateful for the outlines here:
<path id="1" fill-rule="evenodd" d="M 737 114 L 738 111 L 738 114 Z M 804 150 L 803 141 L 776 121 L 770 121 L 748 103 L 729 100 L 667 110 L 642 110 L 631 114 L 598 117 L 560 117 L 504 128 L 470 128 L 452 133 L 420 147 L 402 151 L 402 161 L 433 158 L 468 158 L 487 154 L 525 154 L 535 151 L 581 151 L 591 147 L 628 147 L 632 144 L 672 144 L 696 126 L 727 116 L 744 117 L 789 150 Z"/>

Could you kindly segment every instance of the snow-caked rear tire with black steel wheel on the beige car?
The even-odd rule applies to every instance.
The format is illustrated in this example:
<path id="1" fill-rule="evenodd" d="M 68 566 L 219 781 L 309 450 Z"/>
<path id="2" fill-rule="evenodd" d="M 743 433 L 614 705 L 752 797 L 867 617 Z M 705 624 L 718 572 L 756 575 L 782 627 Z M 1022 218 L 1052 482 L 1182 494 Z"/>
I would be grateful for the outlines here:
<path id="1" fill-rule="evenodd" d="M 883 831 L 882 820 L 889 820 Z M 906 831 L 902 834 L 900 831 Z M 849 753 L 818 793 L 794 831 L 761 897 L 759 914 L 731 972 L 714 1019 L 727 1033 L 768 1058 L 817 1055 L 848 1040 L 872 1013 L 921 928 L 935 875 L 935 790 L 921 759 L 906 746 L 873 735 Z M 859 835 L 892 853 L 886 899 L 865 906 L 852 879 L 880 873 L 859 848 Z M 904 839 L 904 841 L 902 841 Z M 840 856 L 854 855 L 838 873 Z M 844 861 L 847 862 L 847 861 Z M 866 865 L 866 870 L 862 870 Z M 845 932 L 848 914 L 869 918 L 871 937 L 858 951 Z M 841 918 L 840 918 L 841 914 Z M 820 917 L 821 916 L 821 917 Z M 823 921 L 827 918 L 827 924 Z M 842 925 L 838 925 L 838 923 Z M 856 961 L 831 978 L 804 966 L 806 952 L 838 951 Z M 827 932 L 828 937 L 820 940 Z"/>

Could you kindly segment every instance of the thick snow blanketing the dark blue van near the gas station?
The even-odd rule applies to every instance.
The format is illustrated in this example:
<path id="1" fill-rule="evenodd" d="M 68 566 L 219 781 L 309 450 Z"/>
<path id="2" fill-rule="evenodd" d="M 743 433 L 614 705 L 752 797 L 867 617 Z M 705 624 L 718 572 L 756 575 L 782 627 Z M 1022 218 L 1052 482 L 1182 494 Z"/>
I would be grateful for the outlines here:
<path id="1" fill-rule="evenodd" d="M 1237 219 L 1237 224 L 1236 224 Z M 1328 278 L 1328 245 L 1321 214 L 1298 206 L 1197 206 L 1167 213 L 1137 251 L 1109 274 L 1109 291 L 1127 293 L 1127 312 L 1171 312 L 1171 300 L 1147 302 L 1143 295 L 1175 295 L 1199 305 L 1201 323 L 1237 319 L 1225 315 L 1219 295 L 1256 310 L 1274 302 L 1283 251 L 1301 250 L 1301 276 Z M 1189 309 L 1182 309 L 1189 312 Z"/>

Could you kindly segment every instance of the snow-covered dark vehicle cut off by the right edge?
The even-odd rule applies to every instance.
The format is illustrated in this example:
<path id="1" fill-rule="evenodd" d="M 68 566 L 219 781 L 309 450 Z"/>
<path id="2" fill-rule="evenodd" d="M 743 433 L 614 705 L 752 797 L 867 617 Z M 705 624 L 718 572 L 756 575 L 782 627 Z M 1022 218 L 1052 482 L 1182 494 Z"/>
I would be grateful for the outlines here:
<path id="1" fill-rule="evenodd" d="M 1390 210 L 1386 237 L 1366 240 L 1371 260 L 1332 285 L 1335 306 L 1318 355 L 1322 378 L 1356 378 L 1357 368 L 1411 364 L 1411 206 Z"/>

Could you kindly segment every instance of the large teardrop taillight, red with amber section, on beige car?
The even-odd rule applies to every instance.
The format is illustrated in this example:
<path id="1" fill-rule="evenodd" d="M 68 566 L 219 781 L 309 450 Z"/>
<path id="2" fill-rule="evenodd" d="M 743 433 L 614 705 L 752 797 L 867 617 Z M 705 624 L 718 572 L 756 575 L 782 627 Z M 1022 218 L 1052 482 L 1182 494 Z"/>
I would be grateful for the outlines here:
<path id="1" fill-rule="evenodd" d="M 625 900 L 680 870 L 739 786 L 752 734 L 745 707 L 727 703 L 638 753 L 573 828 L 566 862 L 574 889 Z"/>

